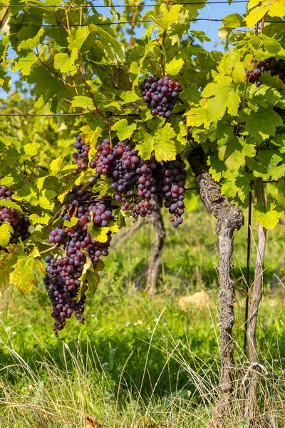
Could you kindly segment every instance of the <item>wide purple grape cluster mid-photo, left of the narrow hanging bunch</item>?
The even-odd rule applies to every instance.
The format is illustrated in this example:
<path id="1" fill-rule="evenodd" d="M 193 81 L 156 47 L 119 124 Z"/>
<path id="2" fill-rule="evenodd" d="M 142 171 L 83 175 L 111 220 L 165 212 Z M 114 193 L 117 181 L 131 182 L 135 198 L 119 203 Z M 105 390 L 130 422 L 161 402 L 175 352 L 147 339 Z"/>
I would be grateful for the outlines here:
<path id="1" fill-rule="evenodd" d="M 110 178 L 111 187 L 115 190 L 115 200 L 120 201 L 122 210 L 130 210 L 134 220 L 139 215 L 151 214 L 150 197 L 156 192 L 156 180 L 153 171 L 155 162 L 146 163 L 129 140 L 119 141 L 114 147 L 105 139 L 97 147 L 95 159 L 90 163 L 98 174 Z M 135 190 L 138 189 L 138 194 Z"/>

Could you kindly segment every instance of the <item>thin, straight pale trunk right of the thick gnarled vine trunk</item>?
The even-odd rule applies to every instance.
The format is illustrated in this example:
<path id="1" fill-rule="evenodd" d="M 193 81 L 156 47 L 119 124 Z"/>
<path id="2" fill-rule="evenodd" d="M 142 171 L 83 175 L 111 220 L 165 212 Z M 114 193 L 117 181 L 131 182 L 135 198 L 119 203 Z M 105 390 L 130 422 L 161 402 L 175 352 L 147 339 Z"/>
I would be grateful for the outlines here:
<path id="1" fill-rule="evenodd" d="M 266 208 L 265 196 L 264 196 L 264 185 L 261 178 L 257 178 L 255 182 L 255 195 L 258 203 L 262 203 Z M 250 362 L 250 374 L 249 374 L 249 389 L 247 395 L 247 407 L 245 409 L 245 417 L 250 422 L 254 423 L 256 416 L 256 398 L 257 398 L 257 384 L 259 377 L 259 361 L 257 357 L 257 345 L 256 345 L 256 330 L 257 330 L 257 315 L 259 305 L 262 297 L 262 286 L 263 286 L 263 271 L 264 271 L 264 258 L 266 248 L 266 229 L 262 228 L 258 223 L 258 243 L 257 243 L 257 259 L 255 262 L 254 270 L 254 282 L 251 290 L 251 300 L 249 306 L 249 320 L 247 322 L 247 342 L 249 347 L 249 362 Z"/>

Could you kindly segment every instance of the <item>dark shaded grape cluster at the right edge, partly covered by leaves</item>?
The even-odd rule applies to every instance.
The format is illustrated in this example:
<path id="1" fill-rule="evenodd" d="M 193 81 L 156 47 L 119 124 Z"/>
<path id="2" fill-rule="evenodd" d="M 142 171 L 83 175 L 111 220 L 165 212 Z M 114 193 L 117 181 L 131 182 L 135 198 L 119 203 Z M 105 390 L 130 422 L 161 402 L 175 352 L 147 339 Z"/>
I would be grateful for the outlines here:
<path id="1" fill-rule="evenodd" d="M 281 81 L 285 84 L 285 60 L 284 59 L 275 59 L 275 58 L 268 58 L 264 61 L 259 61 L 257 63 L 257 68 L 254 69 L 254 71 L 249 71 L 247 68 L 244 68 L 244 71 L 247 76 L 247 80 L 250 83 L 256 83 L 257 86 L 261 86 L 261 81 L 259 80 L 259 77 L 261 76 L 261 73 L 264 73 L 266 71 L 270 71 L 270 75 L 273 76 L 279 76 Z"/>

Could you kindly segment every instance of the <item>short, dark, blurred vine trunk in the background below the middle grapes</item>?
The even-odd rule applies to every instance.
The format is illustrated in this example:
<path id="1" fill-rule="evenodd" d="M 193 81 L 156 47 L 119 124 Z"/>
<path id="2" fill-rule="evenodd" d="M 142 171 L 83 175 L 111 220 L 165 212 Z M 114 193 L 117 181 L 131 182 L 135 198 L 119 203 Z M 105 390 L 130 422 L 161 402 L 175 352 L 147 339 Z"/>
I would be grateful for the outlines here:
<path id="1" fill-rule="evenodd" d="M 160 272 L 160 260 L 162 255 L 162 248 L 165 242 L 165 226 L 163 223 L 161 207 L 162 198 L 160 195 L 152 195 L 152 215 L 150 222 L 155 228 L 155 243 L 150 253 L 150 263 L 147 267 L 147 281 L 146 289 L 150 297 L 155 294 L 157 285 L 157 277 Z"/>

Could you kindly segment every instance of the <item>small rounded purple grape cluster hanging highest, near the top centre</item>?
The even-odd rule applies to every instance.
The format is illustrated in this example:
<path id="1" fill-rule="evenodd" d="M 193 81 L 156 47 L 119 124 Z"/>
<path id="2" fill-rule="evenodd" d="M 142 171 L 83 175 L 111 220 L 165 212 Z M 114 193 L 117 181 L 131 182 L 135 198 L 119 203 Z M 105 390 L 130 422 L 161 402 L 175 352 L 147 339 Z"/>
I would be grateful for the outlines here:
<path id="1" fill-rule="evenodd" d="M 140 85 L 142 99 L 151 108 L 152 116 L 162 116 L 169 118 L 175 106 L 182 86 L 176 80 L 164 76 L 149 76 Z"/>

